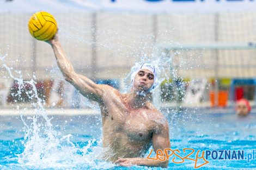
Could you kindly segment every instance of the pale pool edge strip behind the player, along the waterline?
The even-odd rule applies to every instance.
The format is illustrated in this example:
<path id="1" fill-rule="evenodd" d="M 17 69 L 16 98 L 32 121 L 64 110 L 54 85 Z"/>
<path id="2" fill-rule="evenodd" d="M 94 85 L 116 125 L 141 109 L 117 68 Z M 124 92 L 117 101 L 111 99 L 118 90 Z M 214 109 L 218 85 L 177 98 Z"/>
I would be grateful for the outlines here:
<path id="1" fill-rule="evenodd" d="M 180 112 L 202 112 L 204 114 L 231 114 L 235 113 L 235 106 L 229 105 L 225 108 L 220 107 L 210 107 L 209 105 L 182 105 L 181 107 L 177 104 L 162 104 L 160 110 L 165 112 L 166 110 L 172 110 L 175 112 L 179 110 Z M 30 104 L 23 105 L 6 105 L 0 106 L 1 116 L 17 116 L 17 115 L 35 115 L 46 113 L 47 115 L 66 115 L 66 116 L 76 116 L 76 115 L 100 115 L 100 110 L 95 110 L 91 108 L 81 108 L 81 109 L 70 109 L 70 108 L 52 108 L 45 107 L 44 111 L 38 112 L 32 108 Z M 256 113 L 255 105 L 252 106 L 252 113 Z"/>

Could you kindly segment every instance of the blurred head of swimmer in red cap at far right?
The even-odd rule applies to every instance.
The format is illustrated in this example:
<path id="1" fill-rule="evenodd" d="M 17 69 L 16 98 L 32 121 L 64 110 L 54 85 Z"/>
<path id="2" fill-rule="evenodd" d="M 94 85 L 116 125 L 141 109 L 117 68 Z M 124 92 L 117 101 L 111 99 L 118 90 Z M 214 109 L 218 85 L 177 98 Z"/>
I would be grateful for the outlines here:
<path id="1" fill-rule="evenodd" d="M 236 115 L 245 117 L 249 114 L 249 112 L 251 112 L 251 110 L 251 105 L 247 99 L 237 100 L 235 106 Z"/>

